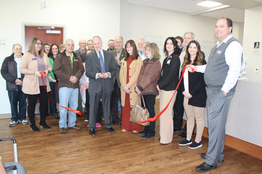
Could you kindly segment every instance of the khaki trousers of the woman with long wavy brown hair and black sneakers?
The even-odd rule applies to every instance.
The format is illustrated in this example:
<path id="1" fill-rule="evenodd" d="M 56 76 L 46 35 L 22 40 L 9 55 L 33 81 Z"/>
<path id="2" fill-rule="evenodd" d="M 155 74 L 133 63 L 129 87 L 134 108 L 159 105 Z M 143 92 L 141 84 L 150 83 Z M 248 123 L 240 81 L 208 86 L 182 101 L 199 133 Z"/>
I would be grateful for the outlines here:
<path id="1" fill-rule="evenodd" d="M 184 97 L 184 109 L 187 114 L 187 139 L 191 139 L 194 129 L 195 119 L 197 122 L 197 136 L 195 141 L 201 141 L 205 122 L 204 108 L 188 105 L 188 98 Z"/>

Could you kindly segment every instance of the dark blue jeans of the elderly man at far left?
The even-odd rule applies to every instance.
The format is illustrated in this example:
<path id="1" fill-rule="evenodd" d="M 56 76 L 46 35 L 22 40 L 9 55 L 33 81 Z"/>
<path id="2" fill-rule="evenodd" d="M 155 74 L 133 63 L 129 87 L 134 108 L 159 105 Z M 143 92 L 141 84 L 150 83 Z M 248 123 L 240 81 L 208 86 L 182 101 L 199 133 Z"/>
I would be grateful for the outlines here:
<path id="1" fill-rule="evenodd" d="M 22 86 L 18 85 L 18 90 L 8 90 L 11 105 L 11 121 L 17 122 L 26 119 L 26 94 L 22 92 Z M 17 104 L 19 109 L 17 109 Z M 18 111 L 19 110 L 19 111 Z"/>

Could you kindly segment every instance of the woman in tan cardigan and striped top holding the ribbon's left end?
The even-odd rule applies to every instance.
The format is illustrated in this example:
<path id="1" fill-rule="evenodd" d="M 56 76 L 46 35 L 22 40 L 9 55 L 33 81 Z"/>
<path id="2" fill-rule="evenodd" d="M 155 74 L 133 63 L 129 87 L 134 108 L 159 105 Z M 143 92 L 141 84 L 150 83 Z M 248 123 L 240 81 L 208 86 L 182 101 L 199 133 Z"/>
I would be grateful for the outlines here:
<path id="1" fill-rule="evenodd" d="M 19 66 L 20 73 L 24 74 L 22 91 L 27 94 L 28 105 L 27 115 L 30 120 L 31 130 L 34 132 L 40 132 L 35 123 L 35 109 L 36 102 L 39 98 L 39 111 L 40 111 L 40 128 L 52 129 L 47 126 L 45 122 L 46 106 L 48 100 L 47 92 L 50 91 L 48 73 L 52 71 L 52 67 L 48 60 L 47 55 L 43 51 L 43 42 L 38 37 L 34 37 L 30 44 L 29 50 L 24 54 Z M 43 75 L 44 83 L 42 81 L 41 72 L 45 72 Z"/>

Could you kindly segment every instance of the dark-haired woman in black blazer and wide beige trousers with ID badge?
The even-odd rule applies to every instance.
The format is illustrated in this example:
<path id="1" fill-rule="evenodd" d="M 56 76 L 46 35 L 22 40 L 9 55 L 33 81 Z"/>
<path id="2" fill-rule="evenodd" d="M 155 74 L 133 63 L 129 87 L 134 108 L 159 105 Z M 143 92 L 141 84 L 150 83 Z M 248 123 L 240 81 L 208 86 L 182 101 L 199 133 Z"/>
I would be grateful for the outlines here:
<path id="1" fill-rule="evenodd" d="M 162 64 L 160 78 L 157 81 L 157 90 L 160 93 L 160 110 L 163 110 L 174 94 L 179 81 L 180 59 L 178 54 L 177 41 L 174 37 L 168 37 L 164 44 L 166 58 Z M 160 116 L 160 143 L 168 144 L 173 138 L 172 109 L 176 100 L 175 93 L 167 109 Z"/>

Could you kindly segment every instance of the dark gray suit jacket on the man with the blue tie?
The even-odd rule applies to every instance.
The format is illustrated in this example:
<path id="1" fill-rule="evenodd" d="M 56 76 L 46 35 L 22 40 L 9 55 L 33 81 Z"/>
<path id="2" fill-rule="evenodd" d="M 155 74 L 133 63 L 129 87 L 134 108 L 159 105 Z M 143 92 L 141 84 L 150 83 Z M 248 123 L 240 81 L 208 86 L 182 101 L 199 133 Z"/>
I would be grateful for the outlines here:
<path id="1" fill-rule="evenodd" d="M 111 78 L 108 77 L 105 79 L 106 91 L 110 92 L 114 90 L 112 77 L 114 77 L 114 75 L 116 74 L 116 65 L 114 62 L 115 59 L 111 52 L 103 50 L 103 53 L 105 62 L 105 72 L 109 72 L 111 74 Z M 102 88 L 102 80 L 104 79 L 95 79 L 96 74 L 99 73 L 99 70 L 96 68 L 96 65 L 101 70 L 98 55 L 95 52 L 95 50 L 93 50 L 92 52 L 86 55 L 86 77 L 89 78 L 89 93 L 99 93 Z"/>

